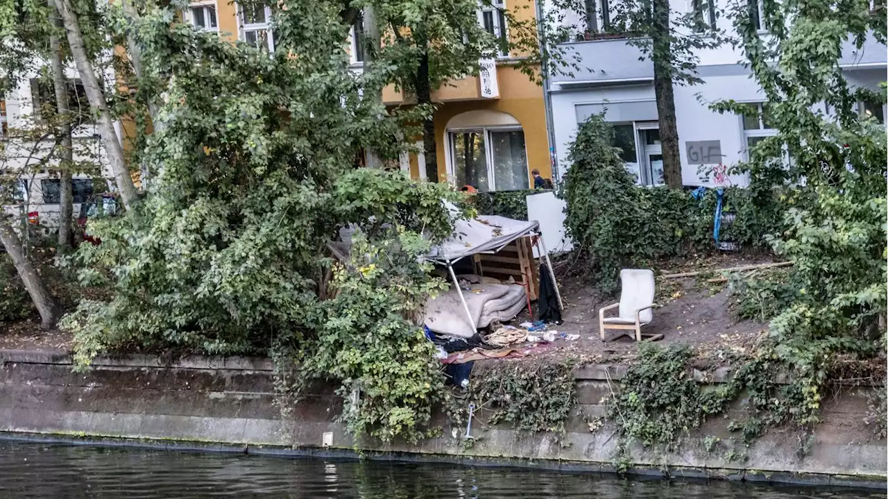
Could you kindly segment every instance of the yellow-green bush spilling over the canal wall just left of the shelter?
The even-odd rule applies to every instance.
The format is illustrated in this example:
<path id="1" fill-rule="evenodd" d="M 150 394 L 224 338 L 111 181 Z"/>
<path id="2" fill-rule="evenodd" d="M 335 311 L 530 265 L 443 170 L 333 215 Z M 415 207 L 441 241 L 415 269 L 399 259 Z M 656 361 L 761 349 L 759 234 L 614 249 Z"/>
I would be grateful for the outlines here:
<path id="1" fill-rule="evenodd" d="M 354 434 L 384 442 L 428 435 L 443 376 L 414 318 L 429 294 L 446 288 L 427 278 L 429 265 L 418 263 L 428 248 L 411 233 L 353 242 L 347 265 L 334 268 L 336 297 L 321 305 L 320 328 L 310 338 L 289 338 L 295 354 L 285 361 L 297 373 L 292 396 L 311 379 L 332 377 L 342 380 L 342 419 Z"/>

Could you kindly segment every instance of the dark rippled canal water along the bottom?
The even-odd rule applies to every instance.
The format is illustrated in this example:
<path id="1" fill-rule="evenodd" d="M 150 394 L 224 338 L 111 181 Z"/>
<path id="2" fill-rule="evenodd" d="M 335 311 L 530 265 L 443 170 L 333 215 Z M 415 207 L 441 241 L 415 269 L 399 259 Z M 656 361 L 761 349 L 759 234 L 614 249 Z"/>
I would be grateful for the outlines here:
<path id="1" fill-rule="evenodd" d="M 310 497 L 361 499 L 884 497 L 824 487 L 627 480 L 443 464 L 325 461 L 0 442 L 0 498 Z"/>

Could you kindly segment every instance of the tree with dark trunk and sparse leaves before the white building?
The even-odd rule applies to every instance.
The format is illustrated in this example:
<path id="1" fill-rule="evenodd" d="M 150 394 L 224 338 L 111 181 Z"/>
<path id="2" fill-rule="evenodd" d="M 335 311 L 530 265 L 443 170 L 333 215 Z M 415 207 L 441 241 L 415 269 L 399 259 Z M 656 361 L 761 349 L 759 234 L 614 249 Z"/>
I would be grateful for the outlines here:
<path id="1" fill-rule="evenodd" d="M 679 189 L 681 156 L 673 85 L 702 83 L 696 73 L 699 51 L 725 42 L 724 34 L 713 22 L 721 11 L 714 0 L 694 0 L 691 12 L 671 12 L 669 0 L 615 0 L 611 5 L 614 12 L 609 29 L 630 36 L 629 43 L 654 63 L 663 179 L 670 188 Z"/>

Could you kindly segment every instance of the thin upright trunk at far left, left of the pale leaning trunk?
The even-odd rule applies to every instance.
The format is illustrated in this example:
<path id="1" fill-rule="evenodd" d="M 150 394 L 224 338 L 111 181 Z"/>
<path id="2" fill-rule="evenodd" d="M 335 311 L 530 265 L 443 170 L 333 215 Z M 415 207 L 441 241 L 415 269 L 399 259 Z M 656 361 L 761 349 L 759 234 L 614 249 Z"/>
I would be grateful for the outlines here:
<path id="1" fill-rule="evenodd" d="M 59 13 L 52 0 L 50 12 L 53 28 L 59 27 Z M 61 41 L 53 30 L 50 34 L 50 50 L 52 51 L 52 88 L 56 96 L 56 115 L 61 124 L 59 133 L 59 249 L 70 249 L 74 244 L 71 226 L 74 216 L 74 193 L 71 189 L 71 168 L 74 164 L 74 149 L 71 144 L 71 112 L 68 109 L 67 84 L 65 83 L 65 67 L 61 61 Z"/>

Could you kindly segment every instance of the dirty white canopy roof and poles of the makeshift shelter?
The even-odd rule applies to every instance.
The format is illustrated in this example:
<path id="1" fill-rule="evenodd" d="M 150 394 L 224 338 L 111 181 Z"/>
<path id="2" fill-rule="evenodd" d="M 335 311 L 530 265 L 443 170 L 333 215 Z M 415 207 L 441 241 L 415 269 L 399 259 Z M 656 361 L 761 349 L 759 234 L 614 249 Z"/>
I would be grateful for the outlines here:
<path id="1" fill-rule="evenodd" d="M 453 234 L 446 241 L 441 242 L 439 246 L 433 248 L 426 256 L 428 261 L 447 267 L 465 317 L 468 319 L 472 330 L 478 329 L 478 321 L 475 319 L 477 313 L 472 313 L 469 305 L 466 303 L 463 289 L 459 285 L 453 265 L 464 257 L 472 257 L 481 253 L 496 253 L 521 237 L 538 236 L 537 241 L 540 244 L 540 249 L 542 249 L 541 255 L 545 258 L 546 267 L 552 281 L 555 283 L 555 293 L 558 296 L 559 307 L 564 308 L 558 283 L 555 281 L 554 273 L 552 273 L 549 251 L 546 250 L 539 228 L 540 224 L 536 221 L 513 220 L 492 215 L 481 215 L 471 220 L 458 219 L 456 220 Z"/>

